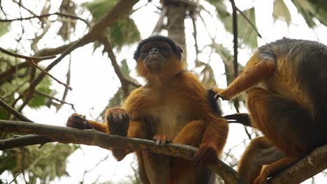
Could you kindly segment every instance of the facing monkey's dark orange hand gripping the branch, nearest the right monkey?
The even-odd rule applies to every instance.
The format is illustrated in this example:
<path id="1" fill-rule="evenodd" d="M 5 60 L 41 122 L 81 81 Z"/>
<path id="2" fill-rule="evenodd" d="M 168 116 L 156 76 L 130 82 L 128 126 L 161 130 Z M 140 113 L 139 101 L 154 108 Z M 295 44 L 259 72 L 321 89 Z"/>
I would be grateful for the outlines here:
<path id="1" fill-rule="evenodd" d="M 200 145 L 200 148 L 194 156 L 193 162 L 196 167 L 204 167 L 206 164 L 209 164 L 217 159 L 217 146 L 206 143 Z"/>

